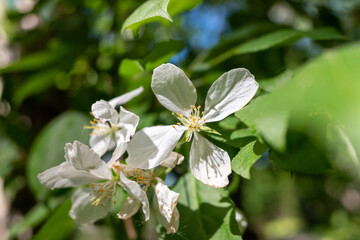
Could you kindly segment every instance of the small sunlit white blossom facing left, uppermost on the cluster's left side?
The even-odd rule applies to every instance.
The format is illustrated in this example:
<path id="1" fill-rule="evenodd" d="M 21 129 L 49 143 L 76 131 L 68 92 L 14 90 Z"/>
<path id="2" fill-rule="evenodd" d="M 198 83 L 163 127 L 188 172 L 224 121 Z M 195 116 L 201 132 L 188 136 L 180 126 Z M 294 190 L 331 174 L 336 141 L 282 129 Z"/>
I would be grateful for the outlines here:
<path id="1" fill-rule="evenodd" d="M 125 104 L 132 98 L 138 96 L 143 87 L 137 88 L 110 101 L 100 100 L 91 106 L 91 114 L 94 119 L 90 121 L 92 129 L 90 133 L 90 146 L 100 156 L 108 150 L 115 149 L 111 162 L 117 160 L 126 150 L 126 145 L 134 135 L 139 117 L 120 106 L 117 112 L 117 105 Z"/>

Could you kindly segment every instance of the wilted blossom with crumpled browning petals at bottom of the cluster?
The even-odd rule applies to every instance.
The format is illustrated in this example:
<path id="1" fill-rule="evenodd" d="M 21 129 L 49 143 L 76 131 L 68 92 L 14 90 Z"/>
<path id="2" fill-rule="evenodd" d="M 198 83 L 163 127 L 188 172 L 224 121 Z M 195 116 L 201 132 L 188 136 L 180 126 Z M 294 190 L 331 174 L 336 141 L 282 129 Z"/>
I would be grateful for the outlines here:
<path id="1" fill-rule="evenodd" d="M 175 153 L 174 153 L 175 154 Z M 174 156 L 174 155 L 173 155 Z M 167 161 L 177 161 L 173 156 L 167 158 Z M 173 163 L 172 163 L 173 164 Z M 128 165 L 116 162 L 114 168 L 117 172 L 122 172 L 128 179 L 136 182 L 146 194 L 150 186 L 154 189 L 154 210 L 158 222 L 166 229 L 167 233 L 175 233 L 179 228 L 179 211 L 176 208 L 179 199 L 179 193 L 171 191 L 162 179 L 154 175 L 153 170 L 142 170 L 132 168 Z M 140 208 L 141 203 L 129 196 L 121 207 L 118 217 L 128 219 L 132 217 Z"/>

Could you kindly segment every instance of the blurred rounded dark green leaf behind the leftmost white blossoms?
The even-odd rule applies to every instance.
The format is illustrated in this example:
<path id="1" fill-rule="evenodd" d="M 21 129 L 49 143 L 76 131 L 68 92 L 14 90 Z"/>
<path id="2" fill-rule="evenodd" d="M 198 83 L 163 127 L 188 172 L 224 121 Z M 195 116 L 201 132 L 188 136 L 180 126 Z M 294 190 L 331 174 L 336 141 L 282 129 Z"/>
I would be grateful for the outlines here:
<path id="1" fill-rule="evenodd" d="M 88 122 L 86 115 L 65 112 L 53 119 L 36 137 L 26 162 L 26 177 L 36 198 L 44 200 L 49 189 L 42 186 L 37 175 L 64 162 L 64 147 L 67 142 L 78 140 L 88 143 L 88 133 L 83 127 Z"/>

